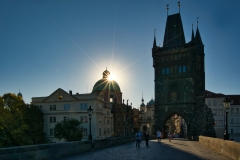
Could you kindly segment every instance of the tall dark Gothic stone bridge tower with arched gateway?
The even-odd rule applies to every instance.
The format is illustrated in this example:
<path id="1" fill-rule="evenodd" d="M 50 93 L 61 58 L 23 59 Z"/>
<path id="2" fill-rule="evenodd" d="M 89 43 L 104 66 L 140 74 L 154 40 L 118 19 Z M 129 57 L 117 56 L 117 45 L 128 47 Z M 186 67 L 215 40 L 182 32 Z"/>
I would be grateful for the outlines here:
<path id="1" fill-rule="evenodd" d="M 198 26 L 195 34 L 191 32 L 191 41 L 186 43 L 179 12 L 167 16 L 163 46 L 156 45 L 154 35 L 155 130 L 163 131 L 167 120 L 177 114 L 187 124 L 188 138 L 214 137 L 213 115 L 203 97 L 204 45 Z"/>

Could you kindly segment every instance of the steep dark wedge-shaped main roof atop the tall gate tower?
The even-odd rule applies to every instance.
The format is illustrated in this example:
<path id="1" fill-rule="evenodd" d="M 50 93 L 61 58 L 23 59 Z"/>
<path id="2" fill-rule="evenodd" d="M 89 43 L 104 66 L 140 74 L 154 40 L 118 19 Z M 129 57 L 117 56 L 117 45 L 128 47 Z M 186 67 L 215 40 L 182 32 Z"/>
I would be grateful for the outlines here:
<path id="1" fill-rule="evenodd" d="M 163 47 L 185 44 L 180 13 L 169 15 L 164 34 Z"/>

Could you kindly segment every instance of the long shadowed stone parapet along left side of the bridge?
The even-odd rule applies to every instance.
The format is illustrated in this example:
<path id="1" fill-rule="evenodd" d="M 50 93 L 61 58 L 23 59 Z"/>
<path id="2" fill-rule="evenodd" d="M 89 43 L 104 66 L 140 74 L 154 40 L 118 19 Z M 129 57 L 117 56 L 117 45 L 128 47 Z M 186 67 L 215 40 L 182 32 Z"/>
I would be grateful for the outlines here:
<path id="1" fill-rule="evenodd" d="M 0 148 L 0 160 L 51 160 L 135 141 L 134 136 Z"/>

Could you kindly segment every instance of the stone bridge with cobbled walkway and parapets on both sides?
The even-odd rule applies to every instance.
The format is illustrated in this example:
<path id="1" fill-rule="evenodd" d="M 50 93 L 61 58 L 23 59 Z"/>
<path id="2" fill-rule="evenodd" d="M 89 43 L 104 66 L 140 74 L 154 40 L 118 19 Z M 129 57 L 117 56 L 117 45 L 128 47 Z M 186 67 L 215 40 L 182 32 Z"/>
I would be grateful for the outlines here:
<path id="1" fill-rule="evenodd" d="M 94 141 L 66 142 L 0 148 L 0 160 L 155 160 L 206 159 L 240 160 L 240 143 L 199 136 L 199 141 L 187 139 L 156 139 L 149 146 L 142 141 L 135 146 L 134 137 L 115 137 Z"/>

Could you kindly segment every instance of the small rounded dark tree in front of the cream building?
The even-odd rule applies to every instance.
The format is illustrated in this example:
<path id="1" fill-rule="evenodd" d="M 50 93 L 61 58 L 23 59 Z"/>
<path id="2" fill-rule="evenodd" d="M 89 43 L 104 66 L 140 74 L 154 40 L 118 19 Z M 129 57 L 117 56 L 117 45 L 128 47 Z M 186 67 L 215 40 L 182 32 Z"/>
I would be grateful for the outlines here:
<path id="1" fill-rule="evenodd" d="M 54 137 L 59 140 L 65 139 L 67 142 L 81 141 L 83 135 L 80 125 L 81 122 L 76 119 L 57 122 L 54 127 Z"/>

